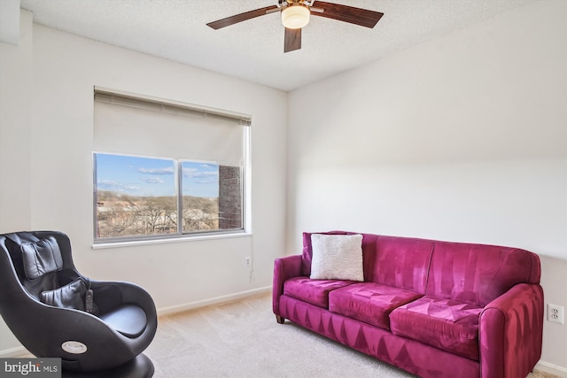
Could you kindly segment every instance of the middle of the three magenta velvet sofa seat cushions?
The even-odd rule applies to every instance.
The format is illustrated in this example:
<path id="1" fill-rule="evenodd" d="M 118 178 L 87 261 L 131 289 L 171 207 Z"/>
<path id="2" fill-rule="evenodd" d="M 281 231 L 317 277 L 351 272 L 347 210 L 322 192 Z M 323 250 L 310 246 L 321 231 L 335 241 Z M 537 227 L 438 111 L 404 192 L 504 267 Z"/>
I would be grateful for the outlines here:
<path id="1" fill-rule="evenodd" d="M 389 315 L 423 294 L 394 288 L 375 282 L 353 283 L 329 294 L 329 311 L 360 320 L 384 329 L 390 329 Z"/>

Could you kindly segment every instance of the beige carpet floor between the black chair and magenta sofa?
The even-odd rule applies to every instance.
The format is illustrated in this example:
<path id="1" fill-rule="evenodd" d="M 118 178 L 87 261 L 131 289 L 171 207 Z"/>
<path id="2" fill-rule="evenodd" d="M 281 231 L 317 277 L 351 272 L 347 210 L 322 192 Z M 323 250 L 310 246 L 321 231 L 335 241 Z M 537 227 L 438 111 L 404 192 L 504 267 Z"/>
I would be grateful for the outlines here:
<path id="1" fill-rule="evenodd" d="M 289 320 L 278 324 L 271 305 L 267 293 L 160 317 L 144 352 L 154 378 L 414 377 Z"/>

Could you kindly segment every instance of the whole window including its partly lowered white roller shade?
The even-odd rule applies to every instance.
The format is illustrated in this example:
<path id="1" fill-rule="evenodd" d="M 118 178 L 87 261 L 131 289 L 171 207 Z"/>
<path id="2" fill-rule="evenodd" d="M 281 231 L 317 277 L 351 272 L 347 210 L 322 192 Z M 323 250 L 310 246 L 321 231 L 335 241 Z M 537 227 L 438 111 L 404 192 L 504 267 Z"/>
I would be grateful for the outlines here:
<path id="1" fill-rule="evenodd" d="M 95 89 L 95 243 L 245 231 L 249 117 Z"/>

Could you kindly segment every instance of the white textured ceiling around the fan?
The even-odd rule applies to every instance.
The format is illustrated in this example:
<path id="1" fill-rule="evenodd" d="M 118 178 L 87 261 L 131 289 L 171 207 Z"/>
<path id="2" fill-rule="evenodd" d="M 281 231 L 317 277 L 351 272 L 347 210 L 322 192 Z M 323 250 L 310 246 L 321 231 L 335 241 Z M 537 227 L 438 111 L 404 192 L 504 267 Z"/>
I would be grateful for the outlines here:
<path id="1" fill-rule="evenodd" d="M 312 17 L 283 53 L 279 13 L 207 22 L 276 0 L 21 0 L 34 21 L 74 35 L 289 91 L 536 0 L 330 0 L 383 12 L 373 29 Z M 316 6 L 316 1 L 315 1 Z"/>

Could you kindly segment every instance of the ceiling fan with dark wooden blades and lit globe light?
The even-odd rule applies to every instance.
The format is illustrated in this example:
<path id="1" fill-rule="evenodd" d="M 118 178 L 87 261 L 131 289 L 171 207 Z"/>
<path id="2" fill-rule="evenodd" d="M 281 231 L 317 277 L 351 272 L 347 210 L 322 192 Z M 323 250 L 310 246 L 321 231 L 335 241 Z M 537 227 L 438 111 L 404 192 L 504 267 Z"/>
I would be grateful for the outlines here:
<path id="1" fill-rule="evenodd" d="M 309 22 L 309 15 L 325 17 L 327 19 L 338 19 L 350 22 L 361 27 L 375 27 L 384 13 L 355 8 L 349 5 L 326 3 L 315 0 L 278 0 L 277 5 L 270 5 L 254 11 L 236 14 L 206 24 L 215 30 L 221 27 L 229 27 L 247 19 L 254 19 L 268 13 L 281 12 L 282 23 L 285 27 L 283 38 L 283 52 L 301 49 L 301 28 Z"/>

